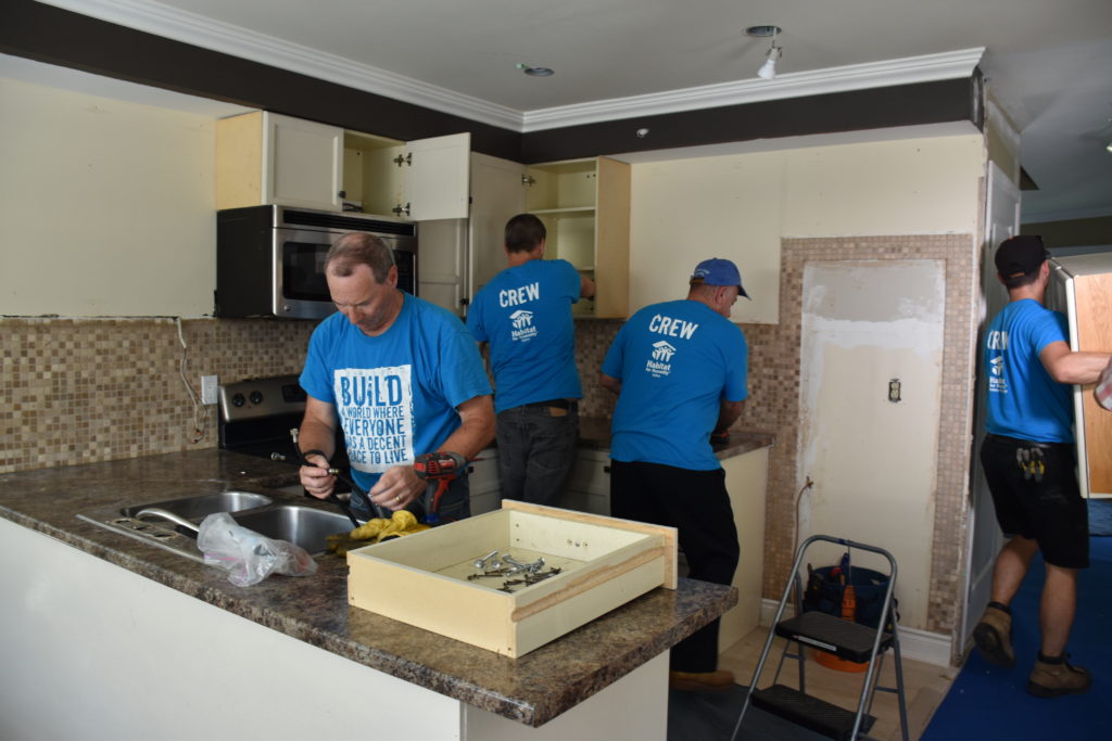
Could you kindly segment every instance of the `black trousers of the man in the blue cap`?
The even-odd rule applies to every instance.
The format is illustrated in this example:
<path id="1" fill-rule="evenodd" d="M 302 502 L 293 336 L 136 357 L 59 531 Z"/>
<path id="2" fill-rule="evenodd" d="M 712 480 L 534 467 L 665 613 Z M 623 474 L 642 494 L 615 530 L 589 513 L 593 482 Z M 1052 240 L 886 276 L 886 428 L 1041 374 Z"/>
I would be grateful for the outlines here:
<path id="1" fill-rule="evenodd" d="M 610 462 L 610 514 L 678 530 L 688 577 L 729 584 L 741 559 L 726 472 L 692 471 L 659 463 Z M 718 620 L 672 649 L 674 671 L 718 667 Z"/>

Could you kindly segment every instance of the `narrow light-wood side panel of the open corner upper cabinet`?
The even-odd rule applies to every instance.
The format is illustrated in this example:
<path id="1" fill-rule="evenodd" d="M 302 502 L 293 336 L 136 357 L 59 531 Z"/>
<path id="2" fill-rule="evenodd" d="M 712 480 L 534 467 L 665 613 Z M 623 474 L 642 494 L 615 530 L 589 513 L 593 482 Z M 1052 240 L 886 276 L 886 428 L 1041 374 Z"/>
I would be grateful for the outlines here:
<path id="1" fill-rule="evenodd" d="M 598 158 L 595 210 L 595 316 L 629 316 L 629 166 Z"/>

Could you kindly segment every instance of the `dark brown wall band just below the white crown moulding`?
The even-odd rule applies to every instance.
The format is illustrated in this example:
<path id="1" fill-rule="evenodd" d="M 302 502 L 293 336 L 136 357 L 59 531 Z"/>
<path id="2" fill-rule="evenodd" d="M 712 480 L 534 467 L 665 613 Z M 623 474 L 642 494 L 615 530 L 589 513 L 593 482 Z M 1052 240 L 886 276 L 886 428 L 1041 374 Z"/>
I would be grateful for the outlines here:
<path id="1" fill-rule="evenodd" d="M 475 151 L 519 162 L 919 123 L 982 123 L 975 74 L 522 134 L 32 0 L 4 6 L 3 53 L 394 139 L 469 131 Z M 649 136 L 637 138 L 639 128 L 649 129 Z"/>

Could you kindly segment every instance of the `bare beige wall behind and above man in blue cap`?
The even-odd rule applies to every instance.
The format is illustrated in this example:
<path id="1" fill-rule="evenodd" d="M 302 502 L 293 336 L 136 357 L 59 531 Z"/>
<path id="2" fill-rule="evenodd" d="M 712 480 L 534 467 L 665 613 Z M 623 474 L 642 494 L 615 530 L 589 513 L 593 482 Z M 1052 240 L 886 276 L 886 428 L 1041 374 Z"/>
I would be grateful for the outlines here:
<path id="1" fill-rule="evenodd" d="M 983 147 L 961 134 L 634 164 L 631 309 L 681 298 L 695 263 L 722 257 L 753 298 L 734 321 L 776 323 L 782 238 L 972 232 Z"/>

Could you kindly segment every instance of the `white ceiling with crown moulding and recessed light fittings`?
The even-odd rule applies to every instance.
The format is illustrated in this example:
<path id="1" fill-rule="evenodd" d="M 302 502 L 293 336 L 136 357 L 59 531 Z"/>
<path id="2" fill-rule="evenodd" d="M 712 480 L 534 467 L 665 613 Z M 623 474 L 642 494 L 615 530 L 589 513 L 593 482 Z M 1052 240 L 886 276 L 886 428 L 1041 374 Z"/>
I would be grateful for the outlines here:
<path id="1" fill-rule="evenodd" d="M 520 131 L 965 77 L 980 60 L 1040 188 L 1023 221 L 1112 214 L 1112 0 L 48 1 Z M 773 81 L 756 77 L 755 24 L 784 29 Z"/>

